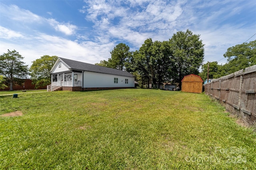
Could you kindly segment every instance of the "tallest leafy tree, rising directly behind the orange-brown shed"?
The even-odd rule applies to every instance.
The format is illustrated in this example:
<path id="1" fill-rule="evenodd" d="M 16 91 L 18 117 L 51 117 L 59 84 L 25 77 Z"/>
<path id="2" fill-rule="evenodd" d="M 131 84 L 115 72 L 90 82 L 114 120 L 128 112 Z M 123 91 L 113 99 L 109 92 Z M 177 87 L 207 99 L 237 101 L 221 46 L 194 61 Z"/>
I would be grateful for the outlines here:
<path id="1" fill-rule="evenodd" d="M 192 31 L 178 31 L 169 39 L 172 50 L 174 66 L 172 68 L 172 79 L 179 83 L 188 74 L 199 74 L 199 67 L 204 59 L 204 44 L 200 40 L 200 35 L 193 34 Z"/>

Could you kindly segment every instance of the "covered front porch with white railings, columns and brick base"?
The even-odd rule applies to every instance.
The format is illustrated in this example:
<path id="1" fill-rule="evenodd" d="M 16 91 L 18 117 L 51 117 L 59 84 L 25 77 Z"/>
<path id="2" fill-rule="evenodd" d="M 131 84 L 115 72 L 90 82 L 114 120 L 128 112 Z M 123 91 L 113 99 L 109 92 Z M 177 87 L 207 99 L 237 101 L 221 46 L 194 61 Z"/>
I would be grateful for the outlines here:
<path id="1" fill-rule="evenodd" d="M 82 71 L 62 72 L 51 74 L 51 84 L 47 86 L 47 91 L 56 90 L 82 90 Z"/>

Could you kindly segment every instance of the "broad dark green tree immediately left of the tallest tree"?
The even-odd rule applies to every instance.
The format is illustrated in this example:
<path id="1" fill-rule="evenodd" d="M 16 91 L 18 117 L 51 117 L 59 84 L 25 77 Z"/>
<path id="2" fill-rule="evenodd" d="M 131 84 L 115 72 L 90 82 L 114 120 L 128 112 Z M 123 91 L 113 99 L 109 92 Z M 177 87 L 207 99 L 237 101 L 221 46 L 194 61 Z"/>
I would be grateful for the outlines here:
<path id="1" fill-rule="evenodd" d="M 152 41 L 146 39 L 142 47 L 133 53 L 130 59 L 131 65 L 142 76 L 142 80 L 148 81 L 157 88 L 161 82 L 169 80 L 169 69 L 171 66 L 171 51 L 168 41 Z M 131 67 L 131 66 L 130 66 Z M 127 68 L 130 68 L 127 67 Z"/>

